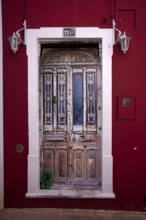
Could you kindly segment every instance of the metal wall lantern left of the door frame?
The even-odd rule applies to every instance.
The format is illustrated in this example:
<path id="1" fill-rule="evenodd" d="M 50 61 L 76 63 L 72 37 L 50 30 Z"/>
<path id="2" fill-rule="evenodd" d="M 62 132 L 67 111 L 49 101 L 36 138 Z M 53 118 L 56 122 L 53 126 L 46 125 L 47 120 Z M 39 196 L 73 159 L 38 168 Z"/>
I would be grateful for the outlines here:
<path id="1" fill-rule="evenodd" d="M 23 28 L 19 29 L 18 31 L 14 32 L 11 37 L 8 37 L 8 41 L 10 43 L 11 50 L 13 50 L 14 53 L 18 51 L 19 49 L 19 44 L 24 44 L 25 45 L 25 40 L 23 41 L 21 39 L 20 31 L 24 30 L 24 39 L 25 39 L 25 30 L 26 30 L 26 21 L 23 22 Z"/>

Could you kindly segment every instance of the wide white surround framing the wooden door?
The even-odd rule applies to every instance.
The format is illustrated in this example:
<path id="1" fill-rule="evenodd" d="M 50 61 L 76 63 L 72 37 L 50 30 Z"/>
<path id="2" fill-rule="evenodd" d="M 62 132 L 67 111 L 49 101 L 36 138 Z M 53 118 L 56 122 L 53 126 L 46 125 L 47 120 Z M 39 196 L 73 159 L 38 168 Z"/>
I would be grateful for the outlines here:
<path id="1" fill-rule="evenodd" d="M 102 190 L 83 195 L 78 190 L 39 189 L 39 43 L 42 41 L 100 41 L 102 42 Z M 96 27 L 76 28 L 75 38 L 63 38 L 63 28 L 26 30 L 28 55 L 28 191 L 26 197 L 115 198 L 113 193 L 112 157 L 112 54 L 114 31 Z M 108 99 L 107 99 L 108 97 Z"/>

